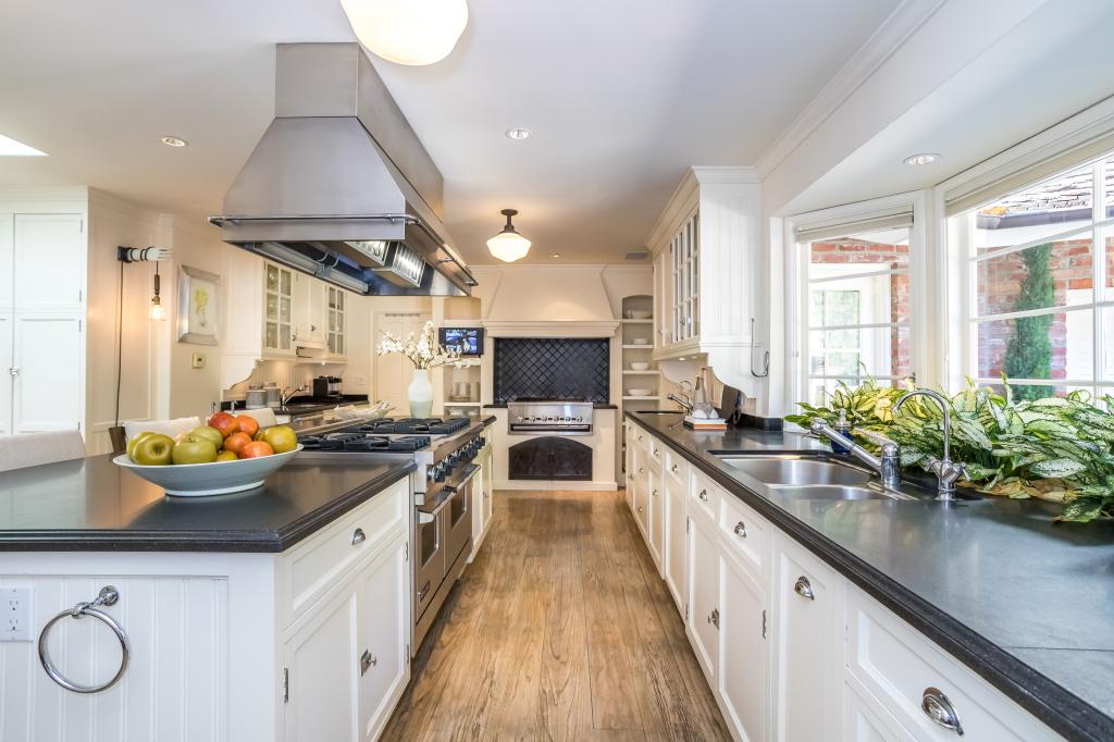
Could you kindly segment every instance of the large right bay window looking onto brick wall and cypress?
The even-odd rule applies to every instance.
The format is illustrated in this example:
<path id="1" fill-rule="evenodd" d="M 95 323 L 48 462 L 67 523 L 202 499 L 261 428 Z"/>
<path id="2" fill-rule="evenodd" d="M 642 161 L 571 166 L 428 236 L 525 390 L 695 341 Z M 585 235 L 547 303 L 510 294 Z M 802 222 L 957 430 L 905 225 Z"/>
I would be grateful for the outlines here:
<path id="1" fill-rule="evenodd" d="M 952 217 L 967 269 L 965 365 L 1037 399 L 1114 392 L 1114 157 Z"/>

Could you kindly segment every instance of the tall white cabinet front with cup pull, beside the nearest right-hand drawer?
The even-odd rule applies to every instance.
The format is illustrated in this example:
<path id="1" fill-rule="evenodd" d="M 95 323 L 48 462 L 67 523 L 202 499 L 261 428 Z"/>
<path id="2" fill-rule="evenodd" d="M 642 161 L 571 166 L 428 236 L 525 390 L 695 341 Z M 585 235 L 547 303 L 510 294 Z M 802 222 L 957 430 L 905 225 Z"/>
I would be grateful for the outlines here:
<path id="1" fill-rule="evenodd" d="M 776 661 L 774 739 L 820 740 L 840 726 L 843 685 L 842 579 L 778 539 L 773 587 Z M 808 709 L 809 713 L 801 713 Z"/>

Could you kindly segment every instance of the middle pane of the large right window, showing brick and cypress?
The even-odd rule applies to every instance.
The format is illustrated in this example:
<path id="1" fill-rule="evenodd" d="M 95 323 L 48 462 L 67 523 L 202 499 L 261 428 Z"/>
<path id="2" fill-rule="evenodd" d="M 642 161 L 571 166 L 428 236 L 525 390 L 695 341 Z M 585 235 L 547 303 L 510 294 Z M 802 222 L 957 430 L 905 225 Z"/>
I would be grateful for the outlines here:
<path id="1" fill-rule="evenodd" d="M 1092 270 L 1089 230 L 1071 240 L 979 261 L 978 315 L 1089 304 Z"/>

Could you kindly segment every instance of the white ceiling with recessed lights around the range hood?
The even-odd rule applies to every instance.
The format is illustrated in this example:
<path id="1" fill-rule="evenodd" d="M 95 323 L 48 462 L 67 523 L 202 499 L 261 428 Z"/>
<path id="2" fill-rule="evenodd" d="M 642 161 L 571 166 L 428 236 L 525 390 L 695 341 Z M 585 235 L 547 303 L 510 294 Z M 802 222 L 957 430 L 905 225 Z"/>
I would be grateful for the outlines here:
<path id="1" fill-rule="evenodd" d="M 898 0 L 471 0 L 457 50 L 377 68 L 441 168 L 475 263 L 515 207 L 530 262 L 643 246 L 690 165 L 747 165 Z M 91 185 L 201 219 L 273 113 L 273 47 L 350 41 L 339 0 L 7 3 L 0 185 Z M 526 126 L 535 136 L 511 141 Z M 159 144 L 174 134 L 190 146 Z"/>

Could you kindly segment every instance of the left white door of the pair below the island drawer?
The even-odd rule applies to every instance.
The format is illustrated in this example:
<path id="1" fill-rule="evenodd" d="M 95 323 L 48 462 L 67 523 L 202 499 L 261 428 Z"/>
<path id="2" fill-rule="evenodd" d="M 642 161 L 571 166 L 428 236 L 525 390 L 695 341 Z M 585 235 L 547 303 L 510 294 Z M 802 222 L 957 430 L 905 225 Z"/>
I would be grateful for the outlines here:
<path id="1" fill-rule="evenodd" d="M 359 594 L 349 584 L 283 645 L 284 739 L 355 742 L 359 734 Z M 361 647 L 361 648 L 358 648 Z"/>

